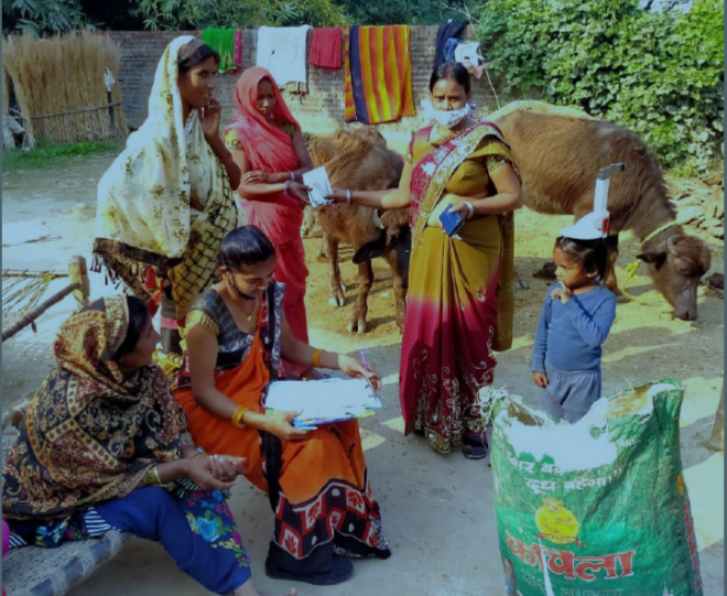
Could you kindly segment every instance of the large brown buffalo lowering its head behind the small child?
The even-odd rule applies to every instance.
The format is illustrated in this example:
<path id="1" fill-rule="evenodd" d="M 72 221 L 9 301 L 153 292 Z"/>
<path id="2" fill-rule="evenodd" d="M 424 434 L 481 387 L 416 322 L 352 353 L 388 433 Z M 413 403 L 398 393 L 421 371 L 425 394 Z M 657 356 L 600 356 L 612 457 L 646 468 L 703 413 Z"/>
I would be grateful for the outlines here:
<path id="1" fill-rule="evenodd" d="M 492 115 L 520 167 L 525 205 L 543 214 L 572 214 L 577 220 L 593 209 L 598 170 L 623 162 L 626 172 L 611 178 L 608 192 L 612 236 L 606 285 L 617 290 L 618 234 L 630 229 L 643 241 L 664 227 L 642 243 L 638 258 L 674 306 L 674 317 L 695 321 L 697 284 L 709 269 L 710 253 L 703 240 L 675 225 L 655 156 L 637 134 L 611 122 L 545 113 L 550 106 L 538 104 L 523 102 L 523 109 L 506 107 L 509 113 Z"/>

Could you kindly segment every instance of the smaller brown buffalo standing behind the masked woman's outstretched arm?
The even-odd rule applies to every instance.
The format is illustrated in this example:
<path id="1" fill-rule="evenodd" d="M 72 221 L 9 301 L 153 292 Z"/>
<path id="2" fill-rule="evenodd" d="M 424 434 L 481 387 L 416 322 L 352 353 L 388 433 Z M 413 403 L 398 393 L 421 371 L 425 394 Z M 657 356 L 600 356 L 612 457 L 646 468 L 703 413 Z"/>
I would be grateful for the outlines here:
<path id="1" fill-rule="evenodd" d="M 383 191 L 399 185 L 403 160 L 387 149 L 383 137 L 372 128 L 340 129 L 329 137 L 308 143 L 315 166 L 325 165 L 333 186 L 351 191 Z M 397 324 L 404 326 L 405 296 L 409 277 L 411 235 L 408 209 L 389 212 L 380 220 L 368 207 L 326 205 L 316 210 L 323 228 L 324 251 L 330 263 L 330 304 L 343 306 L 346 288 L 340 280 L 338 246 L 354 247 L 358 264 L 358 292 L 351 322 L 351 333 L 368 330 L 368 295 L 373 285 L 371 259 L 382 257 L 391 267 L 397 304 Z"/>

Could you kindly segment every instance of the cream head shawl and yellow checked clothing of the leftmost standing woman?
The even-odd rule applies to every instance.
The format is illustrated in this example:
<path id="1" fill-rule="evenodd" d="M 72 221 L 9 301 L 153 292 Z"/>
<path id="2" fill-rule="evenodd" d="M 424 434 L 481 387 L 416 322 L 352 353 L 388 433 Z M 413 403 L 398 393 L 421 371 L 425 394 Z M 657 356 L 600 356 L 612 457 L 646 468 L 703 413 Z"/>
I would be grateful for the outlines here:
<path id="1" fill-rule="evenodd" d="M 200 43 L 184 35 L 164 50 L 149 117 L 98 184 L 94 245 L 111 279 L 122 279 L 142 300 L 151 297 L 142 283 L 145 267 L 161 275 L 169 270 L 180 317 L 208 284 L 221 238 L 237 225 L 225 166 L 207 143 L 196 109 L 185 130 L 177 62 L 191 42 Z M 203 212 L 191 208 L 191 197 Z"/>

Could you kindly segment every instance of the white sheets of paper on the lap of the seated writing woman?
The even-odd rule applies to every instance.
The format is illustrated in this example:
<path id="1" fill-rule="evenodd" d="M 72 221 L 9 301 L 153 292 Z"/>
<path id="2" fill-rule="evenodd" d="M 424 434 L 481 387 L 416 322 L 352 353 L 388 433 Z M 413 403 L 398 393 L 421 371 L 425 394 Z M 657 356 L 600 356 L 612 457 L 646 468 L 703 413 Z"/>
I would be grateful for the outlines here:
<path id="1" fill-rule="evenodd" d="M 265 408 L 301 411 L 297 420 L 325 422 L 364 415 L 381 408 L 381 402 L 371 386 L 360 379 L 274 381 L 268 389 Z"/>

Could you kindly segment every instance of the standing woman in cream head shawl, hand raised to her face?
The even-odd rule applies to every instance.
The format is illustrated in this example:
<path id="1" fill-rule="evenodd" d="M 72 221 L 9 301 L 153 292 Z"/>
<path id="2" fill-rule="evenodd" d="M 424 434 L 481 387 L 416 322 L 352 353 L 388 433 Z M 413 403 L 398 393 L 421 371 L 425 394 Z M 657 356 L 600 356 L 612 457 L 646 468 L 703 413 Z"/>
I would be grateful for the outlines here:
<path id="1" fill-rule="evenodd" d="M 237 226 L 240 171 L 219 136 L 213 97 L 219 56 L 192 36 L 164 51 L 149 118 L 98 185 L 94 270 L 105 267 L 155 310 L 164 348 L 210 283 L 225 234 Z M 167 280 L 166 282 L 164 280 Z"/>

